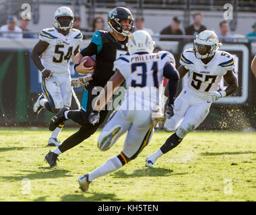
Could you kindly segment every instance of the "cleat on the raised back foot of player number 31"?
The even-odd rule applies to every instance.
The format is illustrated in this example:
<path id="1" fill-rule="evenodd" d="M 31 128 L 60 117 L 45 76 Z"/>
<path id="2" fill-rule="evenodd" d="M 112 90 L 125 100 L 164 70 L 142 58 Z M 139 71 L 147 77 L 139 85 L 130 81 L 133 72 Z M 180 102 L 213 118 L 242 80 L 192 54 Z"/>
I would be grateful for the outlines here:
<path id="1" fill-rule="evenodd" d="M 106 132 L 102 140 L 98 141 L 98 148 L 100 148 L 100 150 L 108 150 L 117 140 L 118 134 L 121 132 L 121 130 L 122 127 L 117 125 L 113 129 Z"/>

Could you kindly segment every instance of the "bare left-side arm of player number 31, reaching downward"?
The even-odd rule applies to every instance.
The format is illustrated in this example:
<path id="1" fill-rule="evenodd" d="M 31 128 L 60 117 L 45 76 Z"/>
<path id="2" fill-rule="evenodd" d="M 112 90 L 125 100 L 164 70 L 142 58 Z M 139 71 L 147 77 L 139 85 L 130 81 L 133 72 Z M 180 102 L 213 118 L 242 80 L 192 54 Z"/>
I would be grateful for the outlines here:
<path id="1" fill-rule="evenodd" d="M 108 103 L 108 100 L 112 97 L 112 95 L 115 93 L 115 91 L 117 91 L 117 89 L 122 85 L 124 81 L 125 78 L 117 70 L 117 72 L 109 79 L 104 89 L 100 91 L 100 95 L 98 95 L 98 99 L 94 104 L 93 110 L 100 112 L 100 110 L 105 107 L 106 103 Z"/>

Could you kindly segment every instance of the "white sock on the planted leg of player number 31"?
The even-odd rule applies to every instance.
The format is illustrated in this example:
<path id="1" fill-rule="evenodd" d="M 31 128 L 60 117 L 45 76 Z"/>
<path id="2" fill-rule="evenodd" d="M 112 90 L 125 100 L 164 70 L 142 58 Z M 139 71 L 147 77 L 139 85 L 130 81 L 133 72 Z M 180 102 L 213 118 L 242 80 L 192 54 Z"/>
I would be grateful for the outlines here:
<path id="1" fill-rule="evenodd" d="M 96 179 L 97 177 L 100 177 L 102 175 L 106 175 L 108 173 L 111 173 L 119 168 L 121 168 L 123 165 L 121 161 L 117 158 L 117 156 L 112 157 L 104 163 L 104 165 L 101 165 L 91 173 L 89 173 L 88 180 L 92 181 L 93 179 Z"/>

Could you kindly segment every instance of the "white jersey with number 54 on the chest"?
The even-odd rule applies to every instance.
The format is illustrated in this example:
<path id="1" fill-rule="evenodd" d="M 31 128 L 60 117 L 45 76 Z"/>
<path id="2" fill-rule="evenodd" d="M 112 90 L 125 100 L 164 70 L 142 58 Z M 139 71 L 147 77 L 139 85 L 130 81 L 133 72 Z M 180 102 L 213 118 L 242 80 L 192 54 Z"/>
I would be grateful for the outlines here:
<path id="1" fill-rule="evenodd" d="M 44 68 L 57 74 L 69 74 L 69 59 L 75 48 L 82 42 L 82 33 L 74 28 L 64 36 L 56 28 L 45 28 L 39 34 L 39 39 L 49 43 L 42 53 Z"/>

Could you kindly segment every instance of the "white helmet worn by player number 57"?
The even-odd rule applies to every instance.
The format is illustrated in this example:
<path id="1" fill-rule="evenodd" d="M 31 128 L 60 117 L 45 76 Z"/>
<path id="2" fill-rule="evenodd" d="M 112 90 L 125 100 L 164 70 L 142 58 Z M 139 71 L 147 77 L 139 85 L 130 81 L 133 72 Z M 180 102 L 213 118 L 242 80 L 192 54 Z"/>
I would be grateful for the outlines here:
<path id="1" fill-rule="evenodd" d="M 205 30 L 198 34 L 194 40 L 195 56 L 199 59 L 214 56 L 216 50 L 220 48 L 221 43 L 214 31 Z"/>

